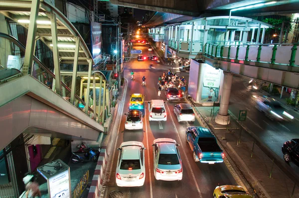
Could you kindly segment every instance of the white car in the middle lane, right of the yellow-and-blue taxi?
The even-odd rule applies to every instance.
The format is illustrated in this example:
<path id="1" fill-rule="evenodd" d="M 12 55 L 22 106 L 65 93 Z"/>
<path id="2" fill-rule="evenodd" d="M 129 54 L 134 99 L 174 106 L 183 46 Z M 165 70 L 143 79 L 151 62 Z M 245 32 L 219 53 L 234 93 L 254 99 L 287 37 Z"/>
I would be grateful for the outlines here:
<path id="1" fill-rule="evenodd" d="M 166 121 L 167 113 L 162 99 L 152 99 L 149 101 L 149 121 Z"/>

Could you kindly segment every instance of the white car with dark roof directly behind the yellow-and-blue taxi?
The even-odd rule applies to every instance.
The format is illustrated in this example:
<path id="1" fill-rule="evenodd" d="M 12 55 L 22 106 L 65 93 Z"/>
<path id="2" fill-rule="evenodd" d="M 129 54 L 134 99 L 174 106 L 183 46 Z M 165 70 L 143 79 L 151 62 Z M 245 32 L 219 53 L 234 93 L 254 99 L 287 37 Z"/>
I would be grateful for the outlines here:
<path id="1" fill-rule="evenodd" d="M 129 110 L 125 115 L 127 115 L 125 129 L 143 129 L 143 113 L 140 110 Z"/>

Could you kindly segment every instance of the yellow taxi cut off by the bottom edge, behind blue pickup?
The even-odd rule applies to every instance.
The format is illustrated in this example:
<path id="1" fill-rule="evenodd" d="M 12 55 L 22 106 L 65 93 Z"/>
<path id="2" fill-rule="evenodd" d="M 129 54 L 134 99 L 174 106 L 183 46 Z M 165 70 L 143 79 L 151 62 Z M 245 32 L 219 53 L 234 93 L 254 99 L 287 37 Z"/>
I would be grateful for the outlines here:
<path id="1" fill-rule="evenodd" d="M 241 186 L 218 186 L 214 190 L 214 198 L 254 198 Z"/>

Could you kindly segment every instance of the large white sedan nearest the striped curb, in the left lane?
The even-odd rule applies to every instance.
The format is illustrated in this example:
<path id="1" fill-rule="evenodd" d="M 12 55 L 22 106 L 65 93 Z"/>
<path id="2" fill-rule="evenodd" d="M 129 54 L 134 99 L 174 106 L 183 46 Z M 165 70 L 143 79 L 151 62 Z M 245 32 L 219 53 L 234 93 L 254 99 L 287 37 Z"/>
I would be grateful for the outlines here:
<path id="1" fill-rule="evenodd" d="M 146 180 L 145 153 L 142 142 L 123 142 L 118 148 L 116 184 L 119 187 L 141 187 Z"/>

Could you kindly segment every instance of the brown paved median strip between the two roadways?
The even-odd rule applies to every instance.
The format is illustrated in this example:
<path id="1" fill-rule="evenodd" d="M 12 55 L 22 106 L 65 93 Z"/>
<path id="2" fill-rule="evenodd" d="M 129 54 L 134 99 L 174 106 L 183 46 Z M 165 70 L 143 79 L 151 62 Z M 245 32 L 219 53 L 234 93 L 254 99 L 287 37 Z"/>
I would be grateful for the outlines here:
<path id="1" fill-rule="evenodd" d="M 259 198 L 299 198 L 299 187 L 294 189 L 293 182 L 275 163 L 270 159 L 257 144 L 248 132 L 242 129 L 241 142 L 237 146 L 240 125 L 234 119 L 230 118 L 228 125 L 219 125 L 215 123 L 215 117 L 210 117 L 212 107 L 195 107 L 206 120 L 201 123 L 203 126 L 209 125 L 218 141 L 225 149 L 225 154 L 234 161 L 244 179 L 250 184 Z M 198 116 L 201 116 L 199 112 Z M 219 107 L 215 107 L 214 115 L 217 114 Z M 211 121 L 210 121 L 211 119 Z M 254 145 L 254 148 L 253 148 Z M 253 149 L 253 153 L 252 153 Z M 251 158 L 252 154 L 252 158 Z M 271 178 L 270 178 L 271 174 Z"/>

